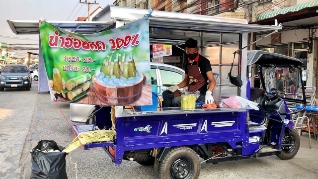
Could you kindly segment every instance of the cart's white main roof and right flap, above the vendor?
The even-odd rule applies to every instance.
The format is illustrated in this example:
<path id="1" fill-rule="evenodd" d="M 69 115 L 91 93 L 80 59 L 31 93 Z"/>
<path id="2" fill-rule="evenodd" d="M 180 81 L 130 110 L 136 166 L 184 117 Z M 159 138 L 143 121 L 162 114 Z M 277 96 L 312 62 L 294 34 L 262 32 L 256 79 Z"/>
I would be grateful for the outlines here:
<path id="1" fill-rule="evenodd" d="M 93 20 L 129 22 L 148 14 L 147 9 L 106 6 Z M 179 12 L 154 10 L 149 17 L 150 27 L 193 30 L 206 32 L 250 33 L 282 29 L 281 26 L 248 24 L 245 19 L 225 18 L 207 15 L 197 15 Z M 273 21 L 274 24 L 274 21 Z"/>

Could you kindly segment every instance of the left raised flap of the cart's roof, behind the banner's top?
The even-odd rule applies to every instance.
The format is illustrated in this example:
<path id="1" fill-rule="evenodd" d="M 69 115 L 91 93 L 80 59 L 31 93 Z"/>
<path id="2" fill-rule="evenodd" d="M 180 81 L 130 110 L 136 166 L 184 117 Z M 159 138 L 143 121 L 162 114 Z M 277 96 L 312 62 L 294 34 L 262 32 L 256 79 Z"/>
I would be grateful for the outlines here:
<path id="1" fill-rule="evenodd" d="M 80 33 L 91 34 L 96 33 L 109 26 L 113 26 L 113 22 L 88 22 L 88 21 L 47 21 L 55 26 L 65 30 Z M 17 35 L 39 34 L 39 21 L 37 20 L 7 20 L 13 33 Z"/>

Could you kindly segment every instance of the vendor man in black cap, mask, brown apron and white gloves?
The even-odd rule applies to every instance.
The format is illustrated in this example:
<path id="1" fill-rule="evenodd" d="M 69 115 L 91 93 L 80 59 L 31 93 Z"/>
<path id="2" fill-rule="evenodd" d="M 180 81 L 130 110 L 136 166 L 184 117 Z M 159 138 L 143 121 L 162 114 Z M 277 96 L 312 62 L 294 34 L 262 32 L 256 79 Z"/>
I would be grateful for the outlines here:
<path id="1" fill-rule="evenodd" d="M 213 103 L 212 91 L 215 87 L 215 79 L 211 64 L 207 58 L 198 53 L 198 50 L 198 41 L 189 38 L 185 42 L 187 58 L 184 80 L 162 92 L 162 107 L 179 107 L 181 105 L 181 93 L 178 89 L 184 87 L 188 87 L 190 92 L 200 91 L 200 96 L 196 102 Z"/>

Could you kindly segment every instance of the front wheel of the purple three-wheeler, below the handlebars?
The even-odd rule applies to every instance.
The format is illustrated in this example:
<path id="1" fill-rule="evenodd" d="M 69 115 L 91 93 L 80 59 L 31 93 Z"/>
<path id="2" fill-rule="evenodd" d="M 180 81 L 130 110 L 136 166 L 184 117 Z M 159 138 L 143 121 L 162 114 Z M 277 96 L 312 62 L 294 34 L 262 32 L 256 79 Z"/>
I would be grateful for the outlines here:
<path id="1" fill-rule="evenodd" d="M 287 129 L 289 130 L 289 129 Z M 276 156 L 283 160 L 292 159 L 298 152 L 300 147 L 300 137 L 295 129 L 290 130 L 292 134 L 292 141 L 289 140 L 288 131 L 285 130 L 282 144 L 293 144 L 292 146 L 282 146 L 282 152 Z"/>

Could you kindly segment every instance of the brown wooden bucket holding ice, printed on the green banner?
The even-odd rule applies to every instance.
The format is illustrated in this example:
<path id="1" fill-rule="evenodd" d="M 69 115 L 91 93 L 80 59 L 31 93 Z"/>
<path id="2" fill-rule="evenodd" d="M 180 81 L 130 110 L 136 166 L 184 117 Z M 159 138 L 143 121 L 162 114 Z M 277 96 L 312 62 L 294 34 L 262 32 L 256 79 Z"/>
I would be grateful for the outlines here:
<path id="1" fill-rule="evenodd" d="M 122 87 L 109 87 L 95 79 L 93 80 L 96 96 L 110 105 L 125 105 L 137 101 L 142 94 L 143 82 L 143 74 L 141 74 L 141 79 L 138 82 Z"/>

